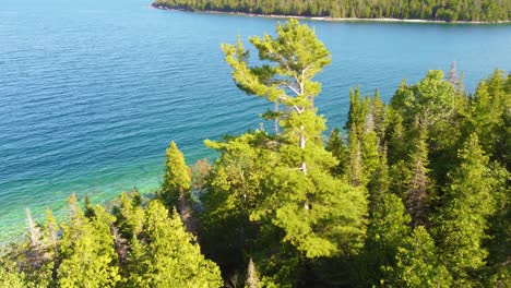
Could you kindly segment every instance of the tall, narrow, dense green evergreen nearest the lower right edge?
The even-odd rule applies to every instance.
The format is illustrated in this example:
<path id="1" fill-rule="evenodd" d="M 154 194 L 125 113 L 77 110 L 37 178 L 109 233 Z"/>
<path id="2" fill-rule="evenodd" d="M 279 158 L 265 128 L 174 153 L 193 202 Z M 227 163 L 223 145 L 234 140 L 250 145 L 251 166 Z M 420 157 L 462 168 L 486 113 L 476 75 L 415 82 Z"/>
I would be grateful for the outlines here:
<path id="1" fill-rule="evenodd" d="M 470 287 L 488 255 L 483 240 L 487 237 L 487 219 L 496 212 L 496 180 L 488 171 L 488 158 L 476 134 L 460 151 L 460 159 L 444 195 L 447 204 L 435 224 L 441 260 L 452 272 L 455 286 Z"/>

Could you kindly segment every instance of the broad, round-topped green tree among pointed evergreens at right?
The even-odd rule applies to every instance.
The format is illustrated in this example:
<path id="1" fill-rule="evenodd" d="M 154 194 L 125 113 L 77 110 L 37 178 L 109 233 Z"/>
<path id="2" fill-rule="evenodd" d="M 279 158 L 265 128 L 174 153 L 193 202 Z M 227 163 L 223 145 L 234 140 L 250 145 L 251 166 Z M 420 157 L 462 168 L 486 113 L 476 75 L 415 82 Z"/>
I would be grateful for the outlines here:
<path id="1" fill-rule="evenodd" d="M 408 86 L 402 83 L 389 109 L 389 158 L 391 165 L 407 160 L 416 148 L 417 127 L 423 130 L 428 149 L 431 179 L 443 184 L 447 171 L 456 164 L 455 151 L 462 139 L 462 113 L 466 99 L 443 79 L 442 71 L 429 71 L 425 79 Z"/>

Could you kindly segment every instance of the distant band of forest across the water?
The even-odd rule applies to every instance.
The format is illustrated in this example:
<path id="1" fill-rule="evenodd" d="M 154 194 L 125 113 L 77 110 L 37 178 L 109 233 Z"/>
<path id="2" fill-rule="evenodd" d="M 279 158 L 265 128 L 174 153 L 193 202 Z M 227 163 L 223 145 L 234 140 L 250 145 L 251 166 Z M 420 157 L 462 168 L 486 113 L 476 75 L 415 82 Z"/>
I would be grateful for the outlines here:
<path id="1" fill-rule="evenodd" d="M 498 22 L 511 20 L 511 0 L 155 0 L 153 7 L 342 19 Z"/>

